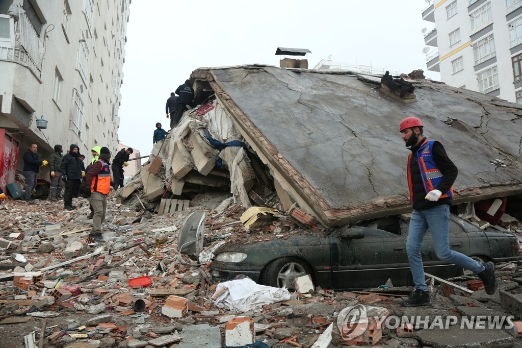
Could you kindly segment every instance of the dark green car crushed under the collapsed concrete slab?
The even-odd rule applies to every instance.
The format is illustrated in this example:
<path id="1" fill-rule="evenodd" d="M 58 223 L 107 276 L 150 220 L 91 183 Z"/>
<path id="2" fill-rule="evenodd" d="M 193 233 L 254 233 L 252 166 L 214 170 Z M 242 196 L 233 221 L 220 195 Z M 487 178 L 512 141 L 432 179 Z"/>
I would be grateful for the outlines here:
<path id="1" fill-rule="evenodd" d="M 217 281 L 240 274 L 259 284 L 295 289 L 297 277 L 310 274 L 315 286 L 325 289 L 363 289 L 384 285 L 412 285 L 406 239 L 408 215 L 325 231 L 303 231 L 261 243 L 228 242 L 215 251 L 211 264 Z M 480 229 L 465 219 L 450 215 L 449 245 L 453 250 L 481 261 L 495 263 L 522 260 L 519 242 L 508 231 Z M 454 264 L 437 259 L 428 231 L 421 248 L 424 271 L 448 279 L 462 275 Z"/>

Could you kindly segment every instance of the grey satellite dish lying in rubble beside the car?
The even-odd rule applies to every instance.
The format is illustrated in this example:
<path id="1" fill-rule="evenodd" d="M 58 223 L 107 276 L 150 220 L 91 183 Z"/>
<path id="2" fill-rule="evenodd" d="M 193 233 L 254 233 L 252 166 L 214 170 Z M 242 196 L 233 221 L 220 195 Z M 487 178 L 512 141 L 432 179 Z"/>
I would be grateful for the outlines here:
<path id="1" fill-rule="evenodd" d="M 193 255 L 203 248 L 205 212 L 188 215 L 177 235 L 177 250 L 182 254 Z"/>

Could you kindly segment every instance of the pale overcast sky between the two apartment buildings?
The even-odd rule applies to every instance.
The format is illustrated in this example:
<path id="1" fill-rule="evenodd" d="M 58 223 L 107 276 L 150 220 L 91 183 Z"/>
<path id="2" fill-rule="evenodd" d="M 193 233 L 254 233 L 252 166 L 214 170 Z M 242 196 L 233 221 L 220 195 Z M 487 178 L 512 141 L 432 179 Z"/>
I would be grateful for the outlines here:
<path id="1" fill-rule="evenodd" d="M 309 67 L 328 59 L 399 73 L 423 69 L 424 0 L 134 0 L 123 65 L 120 142 L 150 154 L 165 102 L 198 67 L 279 66 L 278 47 L 301 48 Z M 431 51 L 435 48 L 431 48 Z"/>

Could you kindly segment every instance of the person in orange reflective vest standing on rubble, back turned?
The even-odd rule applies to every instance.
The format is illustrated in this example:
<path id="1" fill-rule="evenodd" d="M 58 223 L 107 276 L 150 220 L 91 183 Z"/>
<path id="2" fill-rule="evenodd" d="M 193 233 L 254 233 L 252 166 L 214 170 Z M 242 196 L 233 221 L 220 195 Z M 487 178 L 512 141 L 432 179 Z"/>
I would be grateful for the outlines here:
<path id="1" fill-rule="evenodd" d="M 105 220 L 107 210 L 107 197 L 111 189 L 111 152 L 108 148 L 100 149 L 100 156 L 91 166 L 85 177 L 84 198 L 89 199 L 89 203 L 94 208 L 92 218 L 92 230 L 89 236 L 94 241 L 102 242 L 101 224 Z"/>

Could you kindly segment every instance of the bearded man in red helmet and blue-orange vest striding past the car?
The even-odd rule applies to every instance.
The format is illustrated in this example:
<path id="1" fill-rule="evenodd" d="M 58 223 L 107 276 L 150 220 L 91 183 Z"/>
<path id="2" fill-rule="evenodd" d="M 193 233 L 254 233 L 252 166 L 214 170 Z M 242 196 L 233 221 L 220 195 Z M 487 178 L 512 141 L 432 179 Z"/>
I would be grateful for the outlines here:
<path id="1" fill-rule="evenodd" d="M 470 270 L 480 277 L 485 291 L 496 289 L 495 264 L 481 263 L 449 248 L 449 206 L 453 204 L 453 183 L 458 169 L 440 142 L 422 135 L 423 124 L 417 117 L 407 117 L 400 123 L 402 140 L 409 147 L 408 186 L 413 205 L 406 251 L 415 289 L 402 306 L 430 306 L 430 294 L 422 267 L 421 243 L 430 229 L 438 259 Z"/>

